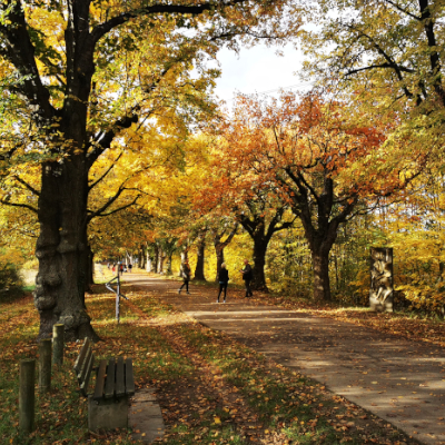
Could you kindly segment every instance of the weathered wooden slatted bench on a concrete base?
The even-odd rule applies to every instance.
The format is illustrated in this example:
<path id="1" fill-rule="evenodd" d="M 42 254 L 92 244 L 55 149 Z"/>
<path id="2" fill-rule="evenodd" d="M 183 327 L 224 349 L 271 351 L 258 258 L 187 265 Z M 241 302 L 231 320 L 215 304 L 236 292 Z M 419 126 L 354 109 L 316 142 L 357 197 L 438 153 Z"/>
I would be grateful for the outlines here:
<path id="1" fill-rule="evenodd" d="M 96 385 L 88 394 L 92 372 Z M 135 394 L 131 358 L 101 359 L 95 367 L 91 342 L 86 338 L 75 363 L 80 393 L 88 397 L 88 428 L 90 431 L 128 427 L 129 397 Z"/>

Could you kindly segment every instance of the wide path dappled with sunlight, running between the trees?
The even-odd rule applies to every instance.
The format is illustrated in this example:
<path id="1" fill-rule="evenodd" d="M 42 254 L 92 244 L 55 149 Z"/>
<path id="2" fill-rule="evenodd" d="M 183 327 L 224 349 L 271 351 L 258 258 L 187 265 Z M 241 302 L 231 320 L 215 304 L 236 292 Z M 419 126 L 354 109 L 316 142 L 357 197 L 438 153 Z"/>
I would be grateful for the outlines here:
<path id="1" fill-rule="evenodd" d="M 125 276 L 127 279 L 128 276 Z M 222 330 L 330 390 L 402 428 L 425 444 L 445 444 L 445 350 L 426 343 L 314 317 L 296 310 L 230 299 L 216 304 L 215 290 L 178 283 L 128 277 L 162 300 Z"/>

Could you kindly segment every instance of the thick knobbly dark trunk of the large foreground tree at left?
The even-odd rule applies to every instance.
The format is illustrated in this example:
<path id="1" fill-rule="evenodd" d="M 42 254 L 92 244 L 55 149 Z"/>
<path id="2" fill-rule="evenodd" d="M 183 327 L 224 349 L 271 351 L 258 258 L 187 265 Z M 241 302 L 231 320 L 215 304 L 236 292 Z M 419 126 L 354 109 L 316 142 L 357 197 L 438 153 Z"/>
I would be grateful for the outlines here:
<path id="1" fill-rule="evenodd" d="M 39 337 L 50 337 L 63 324 L 67 339 L 98 339 L 83 305 L 87 280 L 88 171 L 80 156 L 42 166 L 36 245 L 39 271 L 34 305 L 40 315 Z"/>

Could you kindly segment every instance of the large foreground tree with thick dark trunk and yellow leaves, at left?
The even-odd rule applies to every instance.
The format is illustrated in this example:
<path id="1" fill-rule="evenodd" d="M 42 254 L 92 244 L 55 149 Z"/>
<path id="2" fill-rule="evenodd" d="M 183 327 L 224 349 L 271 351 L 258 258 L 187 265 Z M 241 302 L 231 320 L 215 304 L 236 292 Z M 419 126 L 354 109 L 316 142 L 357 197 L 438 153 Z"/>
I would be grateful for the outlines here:
<path id="1" fill-rule="evenodd" d="M 40 224 L 34 297 L 40 337 L 62 323 L 67 338 L 97 338 L 82 306 L 87 226 L 107 208 L 88 212 L 92 166 L 149 117 L 200 119 L 211 108 L 206 90 L 217 75 L 204 70 L 205 55 L 212 57 L 218 43 L 238 33 L 279 32 L 274 17 L 284 4 L 2 3 L 1 170 L 11 175 L 40 165 L 40 188 L 26 185 L 38 206 L 24 204 Z M 189 76 L 194 65 L 201 77 Z"/>

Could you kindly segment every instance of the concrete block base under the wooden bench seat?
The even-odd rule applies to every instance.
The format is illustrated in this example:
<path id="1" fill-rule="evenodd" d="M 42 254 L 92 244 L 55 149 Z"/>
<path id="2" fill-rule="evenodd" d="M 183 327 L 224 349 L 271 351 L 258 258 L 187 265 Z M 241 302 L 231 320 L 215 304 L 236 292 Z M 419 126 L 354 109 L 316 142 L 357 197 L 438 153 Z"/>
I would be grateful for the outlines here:
<path id="1" fill-rule="evenodd" d="M 99 403 L 88 397 L 88 429 L 128 428 L 128 397 L 119 400 L 113 398 L 105 399 Z"/>

